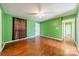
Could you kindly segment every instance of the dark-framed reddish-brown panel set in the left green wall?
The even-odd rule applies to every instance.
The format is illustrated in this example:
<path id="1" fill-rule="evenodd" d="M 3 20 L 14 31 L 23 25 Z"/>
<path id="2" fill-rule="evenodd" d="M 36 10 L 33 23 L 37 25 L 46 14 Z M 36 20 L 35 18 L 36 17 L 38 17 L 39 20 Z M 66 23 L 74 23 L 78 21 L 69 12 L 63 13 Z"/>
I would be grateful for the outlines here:
<path id="1" fill-rule="evenodd" d="M 26 35 L 26 20 L 13 17 L 13 40 L 25 38 Z"/>

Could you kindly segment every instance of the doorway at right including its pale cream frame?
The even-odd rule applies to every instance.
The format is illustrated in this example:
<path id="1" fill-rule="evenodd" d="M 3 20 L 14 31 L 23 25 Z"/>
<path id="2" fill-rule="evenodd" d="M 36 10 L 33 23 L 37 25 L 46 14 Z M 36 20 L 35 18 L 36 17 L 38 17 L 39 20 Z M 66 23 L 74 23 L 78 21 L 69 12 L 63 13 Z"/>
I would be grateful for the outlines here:
<path id="1" fill-rule="evenodd" d="M 62 31 L 64 43 L 75 45 L 75 21 L 73 19 L 63 21 Z"/>

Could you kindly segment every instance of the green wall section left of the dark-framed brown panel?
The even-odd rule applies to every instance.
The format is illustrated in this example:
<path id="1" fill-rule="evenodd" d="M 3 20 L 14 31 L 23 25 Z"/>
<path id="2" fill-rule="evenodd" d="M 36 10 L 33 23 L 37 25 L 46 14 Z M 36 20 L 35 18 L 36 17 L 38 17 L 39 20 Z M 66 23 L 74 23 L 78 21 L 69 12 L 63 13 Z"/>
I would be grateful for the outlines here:
<path id="1" fill-rule="evenodd" d="M 12 16 L 2 13 L 2 41 L 7 42 L 12 40 Z"/>

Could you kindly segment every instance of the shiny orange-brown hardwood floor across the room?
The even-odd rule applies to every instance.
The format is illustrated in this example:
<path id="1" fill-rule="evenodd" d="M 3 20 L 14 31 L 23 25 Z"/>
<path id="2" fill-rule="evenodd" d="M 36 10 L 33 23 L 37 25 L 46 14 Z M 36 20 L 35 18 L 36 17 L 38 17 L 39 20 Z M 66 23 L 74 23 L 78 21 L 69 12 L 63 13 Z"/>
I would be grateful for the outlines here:
<path id="1" fill-rule="evenodd" d="M 45 37 L 36 37 L 18 42 L 8 43 L 1 56 L 76 56 L 75 45 L 56 41 Z"/>

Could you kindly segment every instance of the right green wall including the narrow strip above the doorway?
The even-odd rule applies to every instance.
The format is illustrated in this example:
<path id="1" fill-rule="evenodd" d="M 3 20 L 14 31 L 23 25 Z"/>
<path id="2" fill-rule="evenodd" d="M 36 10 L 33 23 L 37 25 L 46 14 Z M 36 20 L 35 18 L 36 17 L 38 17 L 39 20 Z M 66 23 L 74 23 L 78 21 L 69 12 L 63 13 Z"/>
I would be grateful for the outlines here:
<path id="1" fill-rule="evenodd" d="M 62 40 L 62 20 L 72 19 L 75 20 L 75 14 L 58 17 L 55 19 L 50 19 L 40 23 L 41 26 L 41 35 L 56 38 Z"/>

